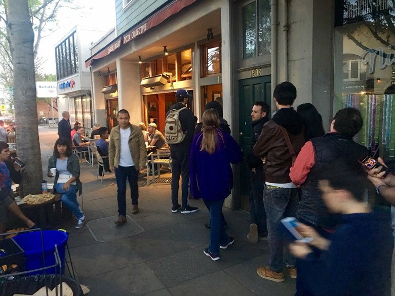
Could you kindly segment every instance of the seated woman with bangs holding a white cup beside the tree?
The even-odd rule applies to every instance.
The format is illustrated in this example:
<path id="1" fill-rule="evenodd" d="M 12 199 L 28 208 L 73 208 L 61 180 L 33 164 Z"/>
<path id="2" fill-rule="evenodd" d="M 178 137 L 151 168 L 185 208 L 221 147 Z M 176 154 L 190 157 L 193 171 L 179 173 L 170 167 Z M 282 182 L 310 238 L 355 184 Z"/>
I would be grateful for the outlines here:
<path id="1" fill-rule="evenodd" d="M 75 228 L 81 228 L 85 224 L 85 216 L 77 201 L 77 191 L 82 194 L 80 181 L 80 161 L 72 153 L 70 142 L 59 138 L 55 142 L 54 154 L 48 162 L 48 177 L 54 177 L 51 168 L 56 168 L 56 175 L 52 193 L 62 194 L 62 202 L 74 214 L 77 219 Z"/>

